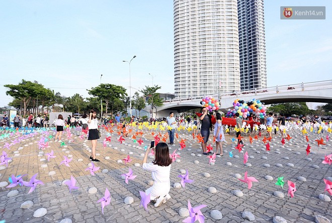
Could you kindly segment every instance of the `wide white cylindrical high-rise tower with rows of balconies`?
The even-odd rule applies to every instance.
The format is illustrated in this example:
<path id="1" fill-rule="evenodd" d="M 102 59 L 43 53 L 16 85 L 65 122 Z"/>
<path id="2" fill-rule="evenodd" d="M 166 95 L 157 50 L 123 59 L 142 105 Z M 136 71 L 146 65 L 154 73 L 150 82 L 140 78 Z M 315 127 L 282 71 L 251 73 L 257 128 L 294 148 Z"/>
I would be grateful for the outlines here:
<path id="1" fill-rule="evenodd" d="M 176 97 L 240 90 L 238 37 L 237 0 L 174 0 Z"/>

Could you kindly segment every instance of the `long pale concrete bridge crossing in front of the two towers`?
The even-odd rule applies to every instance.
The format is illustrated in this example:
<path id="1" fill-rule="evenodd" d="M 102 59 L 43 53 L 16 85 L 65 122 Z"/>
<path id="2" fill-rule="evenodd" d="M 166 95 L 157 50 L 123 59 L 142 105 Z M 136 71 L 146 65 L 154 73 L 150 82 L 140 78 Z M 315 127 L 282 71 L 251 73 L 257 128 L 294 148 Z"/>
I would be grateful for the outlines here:
<path id="1" fill-rule="evenodd" d="M 157 107 L 157 112 L 154 113 L 153 117 L 166 117 L 170 111 L 180 113 L 190 109 L 201 108 L 200 101 L 202 97 L 176 98 L 164 101 L 163 106 Z M 213 95 L 213 97 L 220 99 L 220 109 L 223 112 L 227 111 L 228 108 L 232 108 L 232 103 L 235 99 L 251 101 L 255 98 L 265 102 L 266 105 L 285 102 L 332 103 L 332 80 L 276 86 L 251 91 L 228 92 L 221 93 L 220 97 L 218 94 Z M 144 110 L 148 111 L 147 108 Z"/>

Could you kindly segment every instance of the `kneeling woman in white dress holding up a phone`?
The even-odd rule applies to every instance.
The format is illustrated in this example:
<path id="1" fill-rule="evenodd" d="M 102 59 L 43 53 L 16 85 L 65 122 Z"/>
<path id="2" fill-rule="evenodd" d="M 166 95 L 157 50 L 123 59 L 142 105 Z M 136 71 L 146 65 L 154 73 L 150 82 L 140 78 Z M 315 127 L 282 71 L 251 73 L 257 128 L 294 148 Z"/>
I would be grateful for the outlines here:
<path id="1" fill-rule="evenodd" d="M 152 148 L 153 150 L 154 148 Z M 146 163 L 147 155 L 150 153 L 150 146 L 147 148 L 143 159 L 143 170 L 152 172 L 153 185 L 145 193 L 150 194 L 151 201 L 155 200 L 155 207 L 168 201 L 171 196 L 170 171 L 172 160 L 170 158 L 169 146 L 164 142 L 159 142 L 154 149 L 155 160 Z"/>

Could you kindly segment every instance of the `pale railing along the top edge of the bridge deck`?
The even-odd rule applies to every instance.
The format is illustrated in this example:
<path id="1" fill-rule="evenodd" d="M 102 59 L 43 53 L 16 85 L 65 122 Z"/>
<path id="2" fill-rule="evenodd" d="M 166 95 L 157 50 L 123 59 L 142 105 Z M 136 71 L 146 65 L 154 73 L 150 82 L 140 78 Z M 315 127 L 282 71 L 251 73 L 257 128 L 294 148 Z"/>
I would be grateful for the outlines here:
<path id="1" fill-rule="evenodd" d="M 279 93 L 291 93 L 291 92 L 301 92 L 301 91 L 309 91 L 309 90 L 318 90 L 318 89 L 330 89 L 332 88 L 332 80 L 328 81 L 319 81 L 319 82 L 308 82 L 308 83 L 300 83 L 293 85 L 281 85 L 275 87 L 269 87 L 264 89 L 254 89 L 249 91 L 235 91 L 235 92 L 225 92 L 220 93 L 220 98 L 240 98 L 241 96 L 260 96 L 262 94 L 279 94 Z M 219 98 L 218 94 L 212 95 L 214 98 Z M 194 101 L 202 99 L 202 97 L 188 97 L 188 98 L 175 98 L 172 100 L 164 101 L 164 104 L 171 103 L 180 103 L 183 101 Z"/>

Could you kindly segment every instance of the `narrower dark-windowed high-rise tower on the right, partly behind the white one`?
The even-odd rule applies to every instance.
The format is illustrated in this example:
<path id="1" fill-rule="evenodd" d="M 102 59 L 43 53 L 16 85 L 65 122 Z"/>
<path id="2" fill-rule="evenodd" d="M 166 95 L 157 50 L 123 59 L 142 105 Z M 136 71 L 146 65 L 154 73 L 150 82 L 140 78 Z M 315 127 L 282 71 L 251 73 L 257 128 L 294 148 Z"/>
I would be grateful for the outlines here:
<path id="1" fill-rule="evenodd" d="M 237 0 L 241 90 L 267 87 L 263 0 Z"/>

